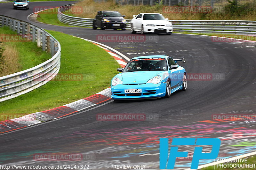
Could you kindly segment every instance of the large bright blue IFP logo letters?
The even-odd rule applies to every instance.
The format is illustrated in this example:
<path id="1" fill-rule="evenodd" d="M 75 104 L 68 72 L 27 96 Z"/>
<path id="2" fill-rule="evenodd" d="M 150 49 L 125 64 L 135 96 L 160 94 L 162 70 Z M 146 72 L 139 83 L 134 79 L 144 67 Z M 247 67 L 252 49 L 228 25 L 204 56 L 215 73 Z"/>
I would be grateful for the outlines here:
<path id="1" fill-rule="evenodd" d="M 178 152 L 178 146 L 172 146 L 168 155 L 168 138 L 160 138 L 160 169 L 174 169 L 177 157 L 187 157 L 188 152 Z M 203 147 L 195 147 L 190 169 L 197 169 L 200 159 L 215 159 L 220 150 L 218 138 L 173 138 L 172 145 L 212 145 L 211 153 L 202 153 Z M 168 158 L 169 156 L 169 158 Z M 167 166 L 166 166 L 167 164 Z"/>

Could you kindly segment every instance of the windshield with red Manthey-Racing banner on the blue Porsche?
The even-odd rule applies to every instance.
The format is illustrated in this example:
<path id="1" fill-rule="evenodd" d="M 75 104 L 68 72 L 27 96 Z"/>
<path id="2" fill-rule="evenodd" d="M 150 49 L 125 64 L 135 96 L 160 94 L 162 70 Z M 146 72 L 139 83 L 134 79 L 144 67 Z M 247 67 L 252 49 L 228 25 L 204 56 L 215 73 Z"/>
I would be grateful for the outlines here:
<path id="1" fill-rule="evenodd" d="M 123 72 L 167 70 L 164 58 L 140 58 L 127 63 Z"/>

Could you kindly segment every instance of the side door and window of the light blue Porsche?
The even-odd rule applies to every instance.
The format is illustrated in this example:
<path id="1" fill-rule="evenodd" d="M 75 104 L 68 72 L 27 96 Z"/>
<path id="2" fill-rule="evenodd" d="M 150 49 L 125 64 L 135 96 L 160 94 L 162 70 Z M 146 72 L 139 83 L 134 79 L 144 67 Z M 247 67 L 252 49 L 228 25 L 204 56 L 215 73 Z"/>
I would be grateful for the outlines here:
<path id="1" fill-rule="evenodd" d="M 168 65 L 169 65 L 169 68 L 171 69 L 171 65 L 177 65 L 177 63 L 175 63 L 175 61 L 173 61 L 172 58 L 168 57 Z M 180 72 L 179 67 L 176 69 L 172 69 L 170 71 L 171 71 L 171 74 L 169 75 L 169 78 L 171 79 L 171 87 L 172 89 L 174 89 L 180 86 L 180 81 L 182 81 L 182 74 Z"/>

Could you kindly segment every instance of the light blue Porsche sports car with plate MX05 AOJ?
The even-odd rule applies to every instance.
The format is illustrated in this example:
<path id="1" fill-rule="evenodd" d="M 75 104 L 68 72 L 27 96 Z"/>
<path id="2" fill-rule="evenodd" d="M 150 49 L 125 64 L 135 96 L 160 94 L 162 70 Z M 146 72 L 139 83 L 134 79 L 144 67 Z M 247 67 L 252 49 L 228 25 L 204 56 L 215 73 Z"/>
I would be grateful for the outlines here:
<path id="1" fill-rule="evenodd" d="M 148 55 L 132 58 L 118 68 L 111 80 L 113 100 L 150 99 L 170 97 L 177 90 L 187 89 L 187 73 L 177 64 L 183 59 L 166 55 Z"/>

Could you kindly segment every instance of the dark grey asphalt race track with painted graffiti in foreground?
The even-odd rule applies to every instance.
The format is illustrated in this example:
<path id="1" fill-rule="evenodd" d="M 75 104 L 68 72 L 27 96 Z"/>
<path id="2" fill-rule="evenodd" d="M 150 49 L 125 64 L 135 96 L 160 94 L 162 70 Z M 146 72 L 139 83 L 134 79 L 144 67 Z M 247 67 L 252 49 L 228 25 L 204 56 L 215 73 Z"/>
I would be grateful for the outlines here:
<path id="1" fill-rule="evenodd" d="M 38 6 L 62 6 L 64 2 L 31 2 L 28 11 L 13 10 L 0 3 L 0 14 L 24 21 Z M 31 22 L 31 21 L 29 21 Z M 33 22 L 32 22 L 33 23 Z M 99 34 L 130 34 L 130 31 L 92 30 L 34 23 L 44 29 L 97 41 Z M 187 91 L 170 98 L 139 101 L 110 101 L 91 110 L 59 120 L 0 135 L 1 165 L 89 165 L 110 169 L 111 165 L 145 165 L 159 169 L 159 138 L 221 139 L 220 158 L 256 151 L 254 121 L 212 120 L 213 115 L 256 113 L 256 42 L 214 42 L 211 37 L 175 34 L 151 35 L 157 42 L 100 42 L 129 58 L 139 55 L 169 55 L 185 58 L 187 73 L 212 73 L 209 81 L 188 81 Z M 104 64 L 104 63 L 102 63 Z M 217 77 L 216 77 L 217 75 Z M 224 75 L 219 78 L 218 75 Z M 96 114 L 156 115 L 146 121 L 97 121 Z M 180 147 L 190 154 L 194 146 Z M 210 152 L 211 146 L 204 146 Z M 82 153 L 80 161 L 36 161 L 35 153 Z M 175 169 L 190 167 L 191 158 L 176 160 Z M 199 165 L 213 162 L 202 160 Z"/>

